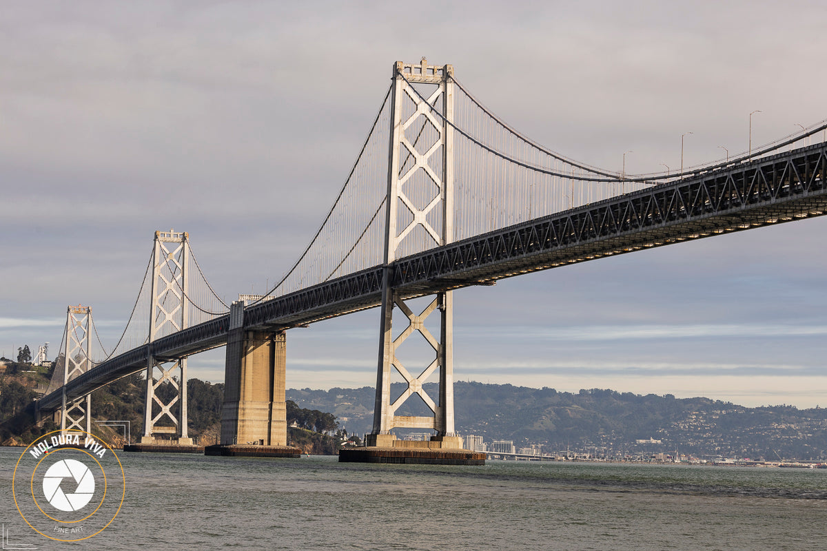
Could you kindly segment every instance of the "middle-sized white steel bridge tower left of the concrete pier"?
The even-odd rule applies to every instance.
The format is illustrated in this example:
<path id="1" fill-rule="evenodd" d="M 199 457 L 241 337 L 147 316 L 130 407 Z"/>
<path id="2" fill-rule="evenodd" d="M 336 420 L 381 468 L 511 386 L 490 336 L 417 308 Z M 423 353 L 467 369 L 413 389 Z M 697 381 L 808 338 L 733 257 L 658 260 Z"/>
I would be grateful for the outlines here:
<path id="1" fill-rule="evenodd" d="M 154 435 L 161 433 L 177 436 L 178 444 L 193 444 L 187 430 L 187 359 L 158 358 L 152 354 L 153 341 L 188 326 L 188 266 L 189 234 L 174 230 L 155 231 L 150 295 L 150 346 L 146 359 L 146 410 L 141 444 L 154 444 Z M 160 372 L 157 382 L 155 370 Z M 174 378 L 176 370 L 177 380 Z M 158 389 L 164 383 L 172 385 L 175 391 L 168 401 L 158 396 Z M 177 416 L 172 412 L 172 407 L 176 403 L 179 405 Z M 165 418 L 169 418 L 174 426 L 156 425 Z"/>

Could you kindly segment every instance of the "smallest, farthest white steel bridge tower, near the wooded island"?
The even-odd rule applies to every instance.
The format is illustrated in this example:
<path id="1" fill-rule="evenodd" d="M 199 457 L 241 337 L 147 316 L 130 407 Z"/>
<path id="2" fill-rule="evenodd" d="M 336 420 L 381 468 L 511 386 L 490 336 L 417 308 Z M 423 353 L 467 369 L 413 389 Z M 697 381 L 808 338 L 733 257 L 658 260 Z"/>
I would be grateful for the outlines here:
<path id="1" fill-rule="evenodd" d="M 60 405 L 60 430 L 85 430 L 91 432 L 92 397 L 87 394 L 74 401 L 66 401 L 66 383 L 86 373 L 92 366 L 89 358 L 92 308 L 69 306 L 66 309 L 66 341 L 63 350 L 63 398 Z"/>

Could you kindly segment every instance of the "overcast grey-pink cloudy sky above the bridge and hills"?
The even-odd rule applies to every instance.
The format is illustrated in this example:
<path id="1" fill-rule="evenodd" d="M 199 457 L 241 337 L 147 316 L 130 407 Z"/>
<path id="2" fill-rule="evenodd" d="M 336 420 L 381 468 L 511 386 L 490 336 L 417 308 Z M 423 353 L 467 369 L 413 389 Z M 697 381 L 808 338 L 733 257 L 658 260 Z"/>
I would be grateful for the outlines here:
<path id="1" fill-rule="evenodd" d="M 189 232 L 222 297 L 264 292 L 347 178 L 397 60 L 453 64 L 572 159 L 674 171 L 681 135 L 690 166 L 747 150 L 751 112 L 753 148 L 827 118 L 825 18 L 822 2 L 752 0 L 8 2 L 0 354 L 48 341 L 53 358 L 70 304 L 92 306 L 111 348 L 155 230 Z M 825 406 L 825 230 L 457 291 L 455 378 Z M 373 386 L 378 333 L 375 310 L 290 330 L 288 387 Z M 222 381 L 223 349 L 189 376 Z"/>

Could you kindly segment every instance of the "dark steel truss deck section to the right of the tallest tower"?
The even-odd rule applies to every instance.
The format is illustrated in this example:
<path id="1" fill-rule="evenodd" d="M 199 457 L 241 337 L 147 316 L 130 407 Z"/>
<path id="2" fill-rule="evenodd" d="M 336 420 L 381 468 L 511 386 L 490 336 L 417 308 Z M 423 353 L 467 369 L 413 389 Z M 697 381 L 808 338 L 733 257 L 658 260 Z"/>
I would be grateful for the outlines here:
<path id="1" fill-rule="evenodd" d="M 544 216 L 399 259 L 394 287 L 424 294 L 821 216 L 825 167 L 825 146 L 810 146 Z"/>

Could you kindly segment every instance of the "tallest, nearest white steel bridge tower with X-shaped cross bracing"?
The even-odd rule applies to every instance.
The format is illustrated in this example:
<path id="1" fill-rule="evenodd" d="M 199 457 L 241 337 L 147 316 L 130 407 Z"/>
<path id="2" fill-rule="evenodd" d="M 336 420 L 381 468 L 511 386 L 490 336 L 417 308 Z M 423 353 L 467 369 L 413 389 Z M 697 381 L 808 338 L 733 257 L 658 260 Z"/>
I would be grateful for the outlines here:
<path id="1" fill-rule="evenodd" d="M 428 65 L 425 58 L 420 64 L 397 62 L 393 78 L 379 363 L 373 430 L 367 437 L 367 444 L 393 446 L 396 437 L 390 434 L 391 429 L 421 428 L 436 430 L 432 442 L 439 441 L 442 448 L 458 449 L 462 445 L 454 430 L 452 292 L 438 293 L 423 311 L 416 313 L 394 290 L 391 280 L 391 265 L 398 255 L 418 252 L 405 248 L 406 239 L 427 243 L 424 248 L 447 245 L 453 240 L 453 135 L 450 125 L 454 110 L 453 67 Z M 442 112 L 442 117 L 433 113 L 433 106 Z M 428 134 L 424 140 L 423 134 Z M 407 328 L 395 339 L 391 332 L 394 306 L 408 321 Z M 440 317 L 438 339 L 426 326 L 428 316 L 432 315 Z M 415 333 L 433 349 L 433 361 L 420 366 L 419 374 L 414 376 L 399 360 L 397 351 Z M 390 382 L 394 369 L 408 386 L 392 400 Z M 423 390 L 423 382 L 437 370 L 439 396 L 434 401 Z M 433 416 L 396 415 L 399 406 L 414 394 L 422 398 Z"/>

